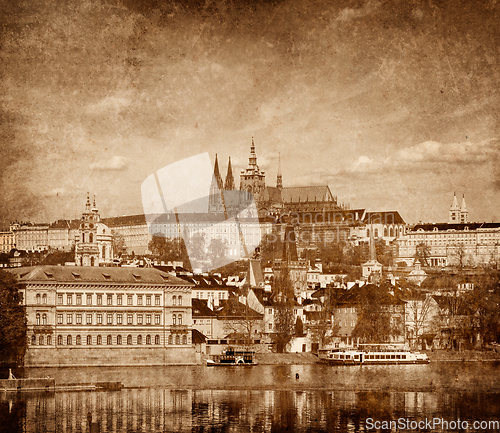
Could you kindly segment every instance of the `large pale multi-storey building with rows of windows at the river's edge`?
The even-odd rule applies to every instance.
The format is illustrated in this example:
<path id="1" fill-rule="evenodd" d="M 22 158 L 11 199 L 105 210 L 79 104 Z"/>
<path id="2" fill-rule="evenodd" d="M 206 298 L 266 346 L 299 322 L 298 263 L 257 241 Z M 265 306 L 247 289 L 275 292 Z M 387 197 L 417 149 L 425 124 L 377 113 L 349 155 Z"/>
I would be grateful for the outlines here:
<path id="1" fill-rule="evenodd" d="M 10 271 L 25 287 L 26 366 L 199 362 L 191 341 L 193 284 L 187 281 L 154 268 Z"/>

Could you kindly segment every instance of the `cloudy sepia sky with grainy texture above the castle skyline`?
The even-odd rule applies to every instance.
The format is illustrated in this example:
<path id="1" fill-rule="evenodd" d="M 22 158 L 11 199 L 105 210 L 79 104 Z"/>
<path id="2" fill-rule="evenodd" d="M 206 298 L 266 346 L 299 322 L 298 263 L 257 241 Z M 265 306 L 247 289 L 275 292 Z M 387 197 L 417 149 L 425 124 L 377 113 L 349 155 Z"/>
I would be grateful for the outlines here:
<path id="1" fill-rule="evenodd" d="M 0 5 L 0 225 L 142 213 L 203 152 L 236 183 L 500 221 L 500 1 L 25 0 Z M 193 172 L 193 175 L 196 173 Z"/>

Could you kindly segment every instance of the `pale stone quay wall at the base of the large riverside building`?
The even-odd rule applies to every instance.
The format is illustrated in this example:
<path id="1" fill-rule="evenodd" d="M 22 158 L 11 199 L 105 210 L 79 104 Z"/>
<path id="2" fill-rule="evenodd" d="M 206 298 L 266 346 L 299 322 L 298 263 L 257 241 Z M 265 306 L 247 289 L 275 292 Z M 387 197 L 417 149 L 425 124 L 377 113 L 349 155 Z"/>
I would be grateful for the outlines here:
<path id="1" fill-rule="evenodd" d="M 26 367 L 112 367 L 200 364 L 194 347 L 30 347 Z"/>

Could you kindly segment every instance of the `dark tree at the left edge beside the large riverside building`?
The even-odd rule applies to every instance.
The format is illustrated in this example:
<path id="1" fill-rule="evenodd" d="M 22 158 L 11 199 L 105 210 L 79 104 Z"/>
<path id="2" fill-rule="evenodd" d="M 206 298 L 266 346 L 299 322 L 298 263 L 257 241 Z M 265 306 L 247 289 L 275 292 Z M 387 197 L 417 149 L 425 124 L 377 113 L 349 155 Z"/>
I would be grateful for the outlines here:
<path id="1" fill-rule="evenodd" d="M 0 363 L 3 367 L 24 363 L 27 325 L 23 288 L 11 273 L 0 269 Z"/>

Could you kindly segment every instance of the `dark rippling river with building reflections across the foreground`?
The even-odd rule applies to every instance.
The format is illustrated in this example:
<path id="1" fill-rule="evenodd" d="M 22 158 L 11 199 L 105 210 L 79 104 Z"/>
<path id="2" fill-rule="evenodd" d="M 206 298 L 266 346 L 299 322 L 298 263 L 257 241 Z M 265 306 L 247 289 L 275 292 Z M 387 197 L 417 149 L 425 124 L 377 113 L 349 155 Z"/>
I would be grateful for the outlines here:
<path id="1" fill-rule="evenodd" d="M 474 422 L 500 421 L 498 362 L 95 367 L 28 375 L 58 384 L 120 381 L 125 388 L 0 393 L 0 431 L 87 432 L 88 414 L 101 432 L 366 432 L 391 420 L 399 423 L 392 431 L 475 431 L 484 429 Z M 412 428 L 425 420 L 425 428 Z M 458 420 L 461 428 L 450 424 Z"/>

